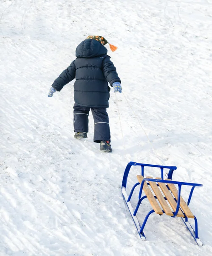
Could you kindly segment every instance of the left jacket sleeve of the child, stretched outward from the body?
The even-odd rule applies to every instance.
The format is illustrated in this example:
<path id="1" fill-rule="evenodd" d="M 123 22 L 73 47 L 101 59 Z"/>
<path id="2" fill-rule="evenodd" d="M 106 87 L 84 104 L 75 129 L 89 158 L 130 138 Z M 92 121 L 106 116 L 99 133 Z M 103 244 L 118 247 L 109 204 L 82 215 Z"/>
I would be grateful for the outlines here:
<path id="1" fill-rule="evenodd" d="M 71 62 L 67 69 L 63 70 L 57 79 L 54 80 L 52 87 L 58 92 L 62 90 L 65 84 L 68 84 L 73 79 L 75 79 L 76 67 L 74 61 Z"/>

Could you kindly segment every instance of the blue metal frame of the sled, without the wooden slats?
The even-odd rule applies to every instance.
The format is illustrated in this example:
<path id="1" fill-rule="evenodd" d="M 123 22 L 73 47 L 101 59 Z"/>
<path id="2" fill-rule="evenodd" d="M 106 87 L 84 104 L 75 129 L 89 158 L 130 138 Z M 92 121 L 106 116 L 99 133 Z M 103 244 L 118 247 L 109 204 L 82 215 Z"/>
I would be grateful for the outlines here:
<path id="1" fill-rule="evenodd" d="M 130 172 L 130 168 L 131 166 L 141 166 L 141 175 L 144 177 L 144 166 L 148 166 L 148 167 L 156 167 L 156 168 L 160 168 L 161 169 L 161 179 L 162 180 L 157 180 L 157 179 L 149 179 L 149 178 L 144 178 L 141 182 L 141 185 L 140 183 L 136 183 L 132 189 L 131 189 L 131 192 L 130 192 L 130 195 L 128 196 L 127 195 L 127 177 L 129 175 L 129 172 Z M 167 175 L 167 178 L 170 179 L 170 180 L 164 180 L 164 169 L 169 169 L 168 171 L 168 175 Z M 126 202 L 127 204 L 127 207 L 130 211 L 130 214 L 133 218 L 133 221 L 134 221 L 134 224 L 136 225 L 136 229 L 139 233 L 139 236 L 141 238 L 141 240 L 146 240 L 146 237 L 144 235 L 144 227 L 145 227 L 145 224 L 147 223 L 147 220 L 149 218 L 149 216 L 155 212 L 154 210 L 151 210 L 150 212 L 147 213 L 146 217 L 144 218 L 144 221 L 142 224 L 139 223 L 139 220 L 138 218 L 136 217 L 136 213 L 138 212 L 138 209 L 139 209 L 139 206 L 141 204 L 141 202 L 147 198 L 146 195 L 142 196 L 142 190 L 143 190 L 143 185 L 144 185 L 144 181 L 147 181 L 147 185 L 150 185 L 148 183 L 148 181 L 153 181 L 153 182 L 162 182 L 162 183 L 172 183 L 172 184 L 176 184 L 178 185 L 178 199 L 175 200 L 176 203 L 177 203 L 177 207 L 176 207 L 176 210 L 175 212 L 173 212 L 173 216 L 171 216 L 172 218 L 175 218 L 176 215 L 178 214 L 178 211 L 180 209 L 180 197 L 181 197 L 181 186 L 183 185 L 186 185 L 186 186 L 192 186 L 191 188 L 191 191 L 190 191 L 190 194 L 189 194 L 189 198 L 188 198 L 188 202 L 187 202 L 187 205 L 189 205 L 190 201 L 191 201 L 191 198 L 192 198 L 192 194 L 193 194 L 193 191 L 195 189 L 196 186 L 203 186 L 202 184 L 198 184 L 198 183 L 188 183 L 188 182 L 179 182 L 179 181 L 172 181 L 172 175 L 173 175 L 173 172 L 174 170 L 176 170 L 177 167 L 176 166 L 159 166 L 159 165 L 151 165 L 151 164 L 145 164 L 145 163 L 135 163 L 135 162 L 129 162 L 126 166 L 126 169 L 124 171 L 124 176 L 123 176 L 123 180 L 122 180 L 122 195 L 123 195 L 123 198 L 124 198 L 124 201 Z M 137 203 L 137 206 L 136 206 L 136 209 L 134 210 L 131 203 L 130 203 L 130 199 L 133 195 L 133 192 L 134 192 L 134 189 L 136 188 L 136 186 L 139 186 L 140 185 L 140 191 L 139 191 L 139 201 Z M 157 184 L 158 185 L 158 184 Z M 167 188 L 169 189 L 169 187 L 167 186 Z M 156 198 L 156 196 L 155 196 Z M 157 199 L 157 198 L 156 198 Z M 167 198 L 164 197 L 165 200 L 167 200 Z M 181 209 L 182 210 L 182 209 Z M 164 212 L 164 211 L 162 211 Z M 182 210 L 183 212 L 183 210 Z M 165 212 L 164 212 L 165 213 Z M 184 212 L 183 212 L 184 213 Z M 198 237 L 198 222 L 197 222 L 197 218 L 195 217 L 194 218 L 194 221 L 195 221 L 195 229 L 193 229 L 193 227 L 191 226 L 191 224 L 189 223 L 188 221 L 188 218 L 186 217 L 185 213 L 184 213 L 184 218 L 181 217 L 181 219 L 184 221 L 184 224 L 186 225 L 187 229 L 189 230 L 189 232 L 191 233 L 192 237 L 195 239 L 196 243 L 198 244 L 198 246 L 202 246 L 203 243 L 200 241 L 199 237 Z"/>

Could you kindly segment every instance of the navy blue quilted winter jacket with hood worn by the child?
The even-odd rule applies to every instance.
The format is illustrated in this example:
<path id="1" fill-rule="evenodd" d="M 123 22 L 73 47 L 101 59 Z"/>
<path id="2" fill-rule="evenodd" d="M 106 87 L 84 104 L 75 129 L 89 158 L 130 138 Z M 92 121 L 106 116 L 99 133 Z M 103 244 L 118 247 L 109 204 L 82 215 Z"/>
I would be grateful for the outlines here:
<path id="1" fill-rule="evenodd" d="M 92 108 L 108 108 L 110 87 L 120 82 L 116 67 L 107 55 L 107 49 L 93 39 L 82 41 L 76 47 L 76 60 L 54 81 L 52 87 L 62 90 L 65 84 L 74 83 L 75 103 Z"/>

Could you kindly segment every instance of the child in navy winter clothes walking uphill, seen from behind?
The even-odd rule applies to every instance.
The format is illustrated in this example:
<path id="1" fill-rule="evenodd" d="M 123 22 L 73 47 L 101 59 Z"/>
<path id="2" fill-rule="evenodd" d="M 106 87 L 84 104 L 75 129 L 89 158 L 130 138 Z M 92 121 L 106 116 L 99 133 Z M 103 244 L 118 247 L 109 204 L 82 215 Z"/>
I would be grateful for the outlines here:
<path id="1" fill-rule="evenodd" d="M 49 97 L 56 91 L 62 90 L 65 84 L 73 79 L 74 82 L 74 106 L 73 126 L 74 138 L 87 138 L 88 115 L 91 110 L 94 119 L 93 141 L 100 143 L 100 150 L 111 152 L 110 126 L 107 109 L 110 98 L 110 86 L 114 92 L 122 92 L 121 80 L 116 73 L 116 67 L 107 55 L 104 47 L 107 40 L 102 36 L 88 36 L 76 47 L 76 59 L 54 81 L 49 90 Z M 117 47 L 110 44 L 110 49 L 115 51 Z"/>

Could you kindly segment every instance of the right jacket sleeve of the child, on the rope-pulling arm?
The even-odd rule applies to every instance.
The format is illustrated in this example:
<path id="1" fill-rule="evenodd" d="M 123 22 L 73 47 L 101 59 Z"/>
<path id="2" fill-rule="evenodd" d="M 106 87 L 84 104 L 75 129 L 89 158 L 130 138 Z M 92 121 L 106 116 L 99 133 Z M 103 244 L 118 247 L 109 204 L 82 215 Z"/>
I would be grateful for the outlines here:
<path id="1" fill-rule="evenodd" d="M 102 62 L 102 71 L 106 80 L 110 83 L 111 86 L 114 82 L 121 83 L 121 79 L 116 72 L 116 67 L 114 66 L 113 62 L 110 61 L 109 57 L 104 58 Z"/>

